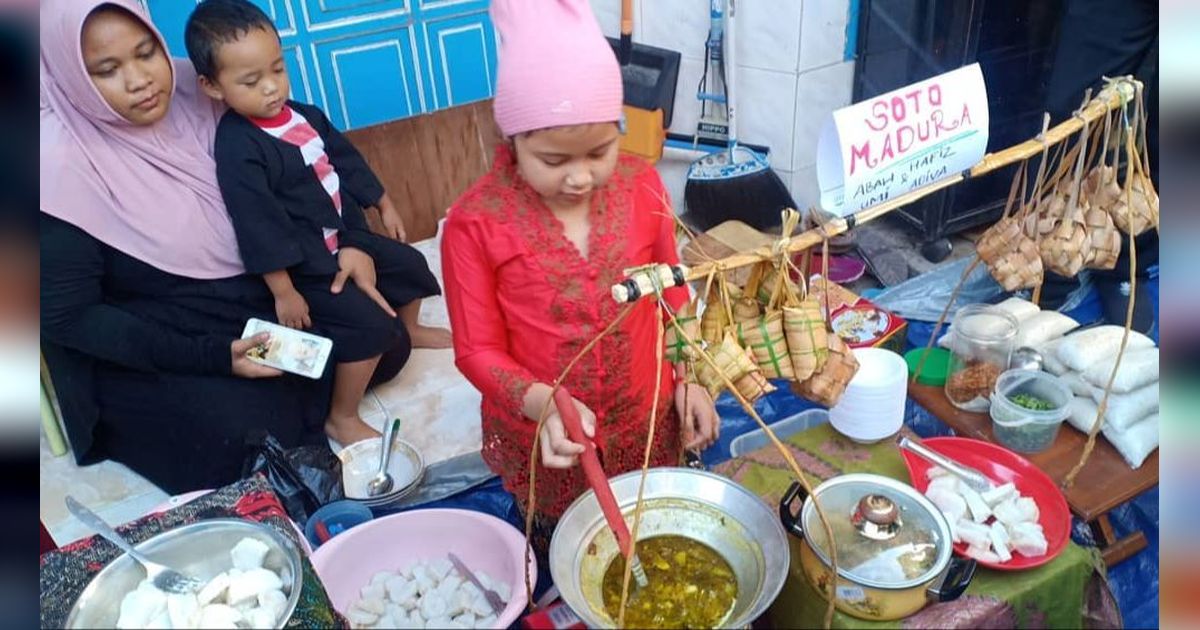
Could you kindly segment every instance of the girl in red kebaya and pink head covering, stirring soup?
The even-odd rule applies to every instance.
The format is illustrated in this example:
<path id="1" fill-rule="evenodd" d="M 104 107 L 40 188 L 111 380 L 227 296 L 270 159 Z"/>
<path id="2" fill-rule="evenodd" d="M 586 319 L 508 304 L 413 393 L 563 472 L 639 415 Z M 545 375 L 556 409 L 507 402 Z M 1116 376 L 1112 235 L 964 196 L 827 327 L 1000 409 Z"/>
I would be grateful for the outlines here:
<path id="1" fill-rule="evenodd" d="M 500 36 L 496 122 L 508 142 L 451 206 L 442 265 L 456 362 L 484 397 L 484 458 L 521 509 L 535 510 L 544 553 L 554 521 L 587 490 L 575 466 L 583 448 L 551 404 L 536 504 L 526 504 L 552 384 L 623 308 L 610 296 L 622 271 L 676 264 L 678 252 L 658 173 L 618 155 L 620 68 L 588 1 L 493 0 L 491 12 Z M 679 308 L 686 290 L 668 289 L 665 301 Z M 563 383 L 610 475 L 641 468 L 653 404 L 650 466 L 677 466 L 684 448 L 716 439 L 708 392 L 684 383 L 683 366 L 655 360 L 665 317 L 641 300 Z"/>

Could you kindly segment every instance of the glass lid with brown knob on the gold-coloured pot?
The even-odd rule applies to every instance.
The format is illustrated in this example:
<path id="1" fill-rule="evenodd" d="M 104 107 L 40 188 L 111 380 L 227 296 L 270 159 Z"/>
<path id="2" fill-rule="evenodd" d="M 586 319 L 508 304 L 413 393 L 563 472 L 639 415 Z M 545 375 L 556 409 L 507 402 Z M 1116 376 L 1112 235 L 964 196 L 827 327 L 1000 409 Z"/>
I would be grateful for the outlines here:
<path id="1" fill-rule="evenodd" d="M 911 486 L 880 475 L 848 474 L 817 486 L 838 551 L 838 574 L 874 588 L 931 580 L 950 559 L 949 526 Z M 805 538 L 829 564 L 824 526 L 812 504 L 800 514 Z"/>

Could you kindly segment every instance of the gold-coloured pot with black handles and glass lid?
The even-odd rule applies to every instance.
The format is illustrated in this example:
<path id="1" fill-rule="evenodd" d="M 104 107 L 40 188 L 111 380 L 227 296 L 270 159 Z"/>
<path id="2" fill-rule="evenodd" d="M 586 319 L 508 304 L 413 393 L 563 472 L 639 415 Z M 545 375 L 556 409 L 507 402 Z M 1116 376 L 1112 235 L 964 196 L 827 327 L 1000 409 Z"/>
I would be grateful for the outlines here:
<path id="1" fill-rule="evenodd" d="M 930 601 L 958 599 L 974 577 L 976 562 L 954 557 L 941 510 L 907 484 L 872 474 L 835 476 L 814 488 L 829 518 L 838 551 L 834 605 L 852 617 L 892 620 Z M 793 482 L 779 505 L 784 527 L 809 582 L 829 598 L 827 535 L 804 488 Z M 803 502 L 799 514 L 797 500 Z M 798 552 L 796 551 L 798 548 Z"/>

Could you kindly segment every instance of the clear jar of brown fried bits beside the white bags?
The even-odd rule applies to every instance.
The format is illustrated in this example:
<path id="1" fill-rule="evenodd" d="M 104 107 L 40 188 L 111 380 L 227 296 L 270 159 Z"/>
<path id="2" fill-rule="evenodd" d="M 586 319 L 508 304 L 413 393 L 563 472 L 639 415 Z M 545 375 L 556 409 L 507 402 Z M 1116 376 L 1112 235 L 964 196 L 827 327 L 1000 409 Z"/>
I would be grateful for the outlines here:
<path id="1" fill-rule="evenodd" d="M 988 304 L 971 304 L 954 316 L 946 397 L 965 412 L 986 412 L 996 379 L 1008 370 L 1019 323 Z"/>

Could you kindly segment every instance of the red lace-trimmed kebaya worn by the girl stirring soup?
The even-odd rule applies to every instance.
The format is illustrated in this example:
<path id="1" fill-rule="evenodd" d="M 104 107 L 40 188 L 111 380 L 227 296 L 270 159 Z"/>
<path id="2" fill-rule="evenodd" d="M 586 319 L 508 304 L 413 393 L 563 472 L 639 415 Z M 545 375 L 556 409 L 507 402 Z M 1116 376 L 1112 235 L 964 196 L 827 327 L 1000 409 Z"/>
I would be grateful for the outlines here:
<path id="1" fill-rule="evenodd" d="M 592 196 L 588 258 L 563 233 L 538 193 L 516 172 L 512 150 L 497 149 L 492 170 L 450 209 L 442 239 L 446 305 L 458 368 L 484 395 L 482 455 L 516 494 L 528 497 L 536 422 L 522 414 L 526 391 L 551 384 L 613 319 L 610 296 L 624 269 L 678 263 L 671 205 L 658 173 L 622 156 Z M 666 292 L 679 308 L 686 289 Z M 674 374 L 655 365 L 661 312 L 642 300 L 612 334 L 576 364 L 564 386 L 596 414 L 595 444 L 606 472 L 641 468 L 654 374 L 661 374 L 650 466 L 679 462 Z M 557 518 L 587 490 L 582 470 L 538 470 L 536 509 Z"/>

